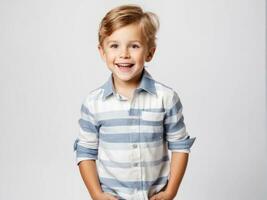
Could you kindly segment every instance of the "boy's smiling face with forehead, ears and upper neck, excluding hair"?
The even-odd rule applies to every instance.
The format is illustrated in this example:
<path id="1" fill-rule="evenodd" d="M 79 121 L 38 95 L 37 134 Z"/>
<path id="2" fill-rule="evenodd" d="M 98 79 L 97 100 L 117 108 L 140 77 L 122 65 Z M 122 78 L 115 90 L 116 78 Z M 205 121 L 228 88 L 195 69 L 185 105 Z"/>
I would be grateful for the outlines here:
<path id="1" fill-rule="evenodd" d="M 144 63 L 152 59 L 155 48 L 148 49 L 139 26 L 130 24 L 106 37 L 99 51 L 114 81 L 138 84 Z"/>

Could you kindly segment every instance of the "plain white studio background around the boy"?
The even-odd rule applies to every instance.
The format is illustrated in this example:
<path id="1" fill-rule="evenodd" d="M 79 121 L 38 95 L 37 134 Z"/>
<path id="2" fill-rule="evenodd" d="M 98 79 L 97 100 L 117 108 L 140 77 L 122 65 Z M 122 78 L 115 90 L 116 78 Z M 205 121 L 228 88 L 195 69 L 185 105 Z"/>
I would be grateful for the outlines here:
<path id="1" fill-rule="evenodd" d="M 89 199 L 73 142 L 83 98 L 110 74 L 99 22 L 122 3 L 158 14 L 147 69 L 197 137 L 177 199 L 266 200 L 263 0 L 1 0 L 0 199 Z"/>

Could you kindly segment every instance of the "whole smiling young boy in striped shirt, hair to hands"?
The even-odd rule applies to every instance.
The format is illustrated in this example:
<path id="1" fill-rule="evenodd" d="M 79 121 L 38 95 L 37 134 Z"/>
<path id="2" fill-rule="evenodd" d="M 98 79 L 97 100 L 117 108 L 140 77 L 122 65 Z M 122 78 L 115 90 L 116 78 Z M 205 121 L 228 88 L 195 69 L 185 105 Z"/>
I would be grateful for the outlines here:
<path id="1" fill-rule="evenodd" d="M 99 52 L 112 73 L 84 99 L 74 143 L 94 200 L 171 200 L 182 181 L 195 138 L 177 93 L 144 68 L 158 26 L 155 14 L 134 5 L 112 9 L 100 24 Z"/>

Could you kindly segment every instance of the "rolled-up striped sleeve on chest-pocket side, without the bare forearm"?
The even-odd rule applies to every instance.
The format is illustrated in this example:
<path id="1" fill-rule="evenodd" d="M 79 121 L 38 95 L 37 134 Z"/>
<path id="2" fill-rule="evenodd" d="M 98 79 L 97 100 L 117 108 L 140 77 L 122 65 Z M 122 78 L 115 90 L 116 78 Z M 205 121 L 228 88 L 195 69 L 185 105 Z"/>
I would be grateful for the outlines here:
<path id="1" fill-rule="evenodd" d="M 190 153 L 190 148 L 195 141 L 187 133 L 182 114 L 183 106 L 178 94 L 173 91 L 167 105 L 164 119 L 164 133 L 168 142 L 168 149 L 172 152 Z"/>

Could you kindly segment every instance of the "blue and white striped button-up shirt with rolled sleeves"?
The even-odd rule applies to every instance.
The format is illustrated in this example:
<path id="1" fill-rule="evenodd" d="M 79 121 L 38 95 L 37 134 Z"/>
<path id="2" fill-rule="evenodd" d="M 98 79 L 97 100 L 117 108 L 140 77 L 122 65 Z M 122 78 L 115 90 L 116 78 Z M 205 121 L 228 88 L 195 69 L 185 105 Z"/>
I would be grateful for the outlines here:
<path id="1" fill-rule="evenodd" d="M 96 160 L 101 188 L 119 199 L 146 200 L 168 182 L 171 152 L 190 153 L 182 104 L 144 68 L 133 98 L 116 93 L 112 74 L 82 102 L 77 165 Z"/>

